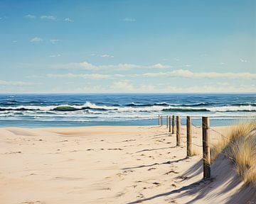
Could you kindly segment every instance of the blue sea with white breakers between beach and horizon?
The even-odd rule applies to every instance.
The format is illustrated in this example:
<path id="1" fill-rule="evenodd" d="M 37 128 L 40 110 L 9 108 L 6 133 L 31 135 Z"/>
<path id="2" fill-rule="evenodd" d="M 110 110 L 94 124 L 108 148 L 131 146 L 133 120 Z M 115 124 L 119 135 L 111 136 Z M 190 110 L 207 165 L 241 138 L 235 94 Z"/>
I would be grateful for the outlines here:
<path id="1" fill-rule="evenodd" d="M 0 127 L 158 125 L 159 115 L 232 125 L 255 119 L 256 94 L 0 94 Z"/>

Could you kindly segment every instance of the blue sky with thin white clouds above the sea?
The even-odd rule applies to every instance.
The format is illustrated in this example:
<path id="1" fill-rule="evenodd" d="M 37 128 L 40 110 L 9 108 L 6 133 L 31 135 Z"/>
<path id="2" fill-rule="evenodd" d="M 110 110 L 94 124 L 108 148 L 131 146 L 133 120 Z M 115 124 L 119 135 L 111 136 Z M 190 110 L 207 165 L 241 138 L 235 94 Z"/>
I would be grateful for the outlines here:
<path id="1" fill-rule="evenodd" d="M 255 0 L 0 0 L 0 93 L 256 92 Z"/>

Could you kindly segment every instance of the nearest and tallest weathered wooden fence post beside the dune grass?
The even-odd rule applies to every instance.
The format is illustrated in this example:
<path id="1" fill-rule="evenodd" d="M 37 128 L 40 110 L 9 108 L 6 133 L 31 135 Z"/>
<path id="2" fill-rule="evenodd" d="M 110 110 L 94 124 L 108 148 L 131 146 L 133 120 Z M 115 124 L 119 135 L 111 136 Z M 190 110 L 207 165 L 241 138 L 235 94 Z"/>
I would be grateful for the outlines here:
<path id="1" fill-rule="evenodd" d="M 209 117 L 202 118 L 203 127 L 203 179 L 210 178 L 210 138 Z"/>

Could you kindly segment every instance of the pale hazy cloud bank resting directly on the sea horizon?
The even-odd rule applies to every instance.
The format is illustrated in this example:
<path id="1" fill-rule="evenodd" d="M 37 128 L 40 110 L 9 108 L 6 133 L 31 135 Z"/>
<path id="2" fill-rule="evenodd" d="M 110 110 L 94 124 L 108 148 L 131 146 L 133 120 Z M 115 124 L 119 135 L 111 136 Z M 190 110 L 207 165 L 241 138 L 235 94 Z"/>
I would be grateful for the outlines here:
<path id="1" fill-rule="evenodd" d="M 75 84 L 74 84 L 75 85 Z M 244 84 L 203 84 L 201 86 L 171 86 L 171 84 L 134 84 L 133 81 L 120 80 L 112 84 L 102 86 L 100 84 L 90 84 L 85 86 L 58 86 L 53 92 L 73 93 L 245 93 L 256 92 L 256 86 L 247 86 Z"/>

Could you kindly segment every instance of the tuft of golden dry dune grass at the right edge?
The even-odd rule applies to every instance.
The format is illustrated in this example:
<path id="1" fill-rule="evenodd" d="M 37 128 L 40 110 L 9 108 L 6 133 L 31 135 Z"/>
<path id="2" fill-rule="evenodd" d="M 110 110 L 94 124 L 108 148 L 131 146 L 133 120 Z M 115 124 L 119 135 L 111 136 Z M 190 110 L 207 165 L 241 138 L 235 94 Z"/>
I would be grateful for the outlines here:
<path id="1" fill-rule="evenodd" d="M 225 154 L 244 183 L 256 185 L 256 120 L 233 125 L 224 136 L 210 149 L 211 162 Z"/>

